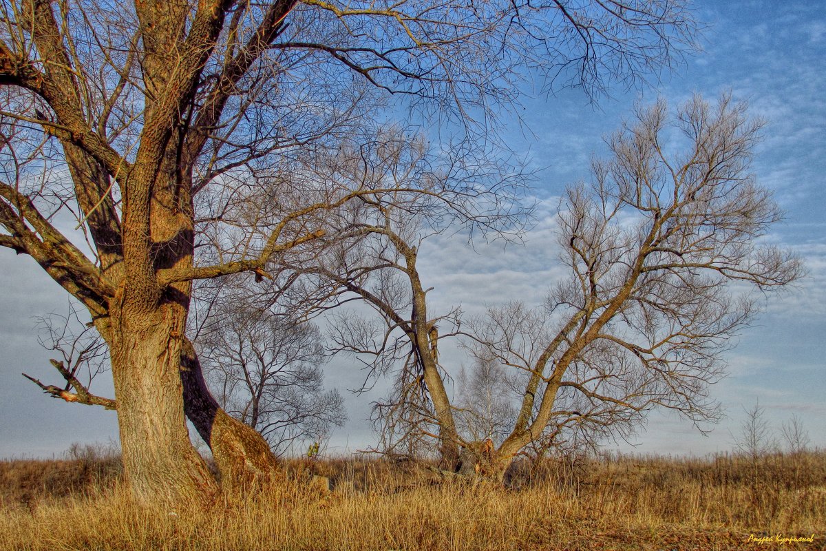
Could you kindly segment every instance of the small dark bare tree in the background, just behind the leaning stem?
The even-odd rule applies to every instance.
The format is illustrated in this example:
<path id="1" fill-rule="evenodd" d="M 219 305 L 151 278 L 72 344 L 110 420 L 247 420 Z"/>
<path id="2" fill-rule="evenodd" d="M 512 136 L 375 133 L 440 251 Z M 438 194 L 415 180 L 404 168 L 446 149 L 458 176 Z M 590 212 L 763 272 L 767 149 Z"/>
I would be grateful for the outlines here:
<path id="1" fill-rule="evenodd" d="M 244 297 L 213 310 L 218 320 L 197 340 L 218 403 L 259 431 L 277 455 L 294 442 L 325 439 L 347 416 L 339 392 L 324 390 L 320 330 Z"/>

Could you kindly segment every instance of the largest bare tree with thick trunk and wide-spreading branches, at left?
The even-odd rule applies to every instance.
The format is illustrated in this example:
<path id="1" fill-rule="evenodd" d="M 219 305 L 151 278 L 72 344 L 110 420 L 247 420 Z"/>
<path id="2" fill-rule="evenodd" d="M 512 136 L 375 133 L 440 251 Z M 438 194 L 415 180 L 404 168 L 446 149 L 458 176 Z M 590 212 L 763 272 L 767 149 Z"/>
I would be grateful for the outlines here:
<path id="1" fill-rule="evenodd" d="M 531 70 L 598 93 L 671 64 L 695 35 L 672 0 L 9 0 L 0 11 L 0 245 L 89 311 L 110 352 L 131 491 L 168 501 L 217 490 L 184 412 L 222 482 L 275 468 L 207 391 L 187 338 L 192 282 L 266 277 L 325 235 L 308 215 L 376 190 L 328 182 L 254 230 L 223 223 L 236 193 L 268 181 L 275 196 L 261 202 L 277 201 L 310 186 L 301 167 L 387 91 L 479 129 Z M 82 236 L 58 229 L 64 210 Z M 210 225 L 236 240 L 233 254 L 197 242 Z"/>

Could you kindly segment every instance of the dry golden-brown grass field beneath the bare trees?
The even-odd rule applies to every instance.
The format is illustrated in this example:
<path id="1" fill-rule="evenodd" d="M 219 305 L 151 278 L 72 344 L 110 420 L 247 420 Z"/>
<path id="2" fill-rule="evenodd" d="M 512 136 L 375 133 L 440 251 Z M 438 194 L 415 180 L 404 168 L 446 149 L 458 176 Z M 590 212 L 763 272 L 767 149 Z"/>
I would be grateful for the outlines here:
<path id="1" fill-rule="evenodd" d="M 77 451 L 0 462 L 0 549 L 826 549 L 823 452 L 548 460 L 513 469 L 509 487 L 412 463 L 294 462 L 280 490 L 170 511 L 132 505 L 116 457 Z"/>

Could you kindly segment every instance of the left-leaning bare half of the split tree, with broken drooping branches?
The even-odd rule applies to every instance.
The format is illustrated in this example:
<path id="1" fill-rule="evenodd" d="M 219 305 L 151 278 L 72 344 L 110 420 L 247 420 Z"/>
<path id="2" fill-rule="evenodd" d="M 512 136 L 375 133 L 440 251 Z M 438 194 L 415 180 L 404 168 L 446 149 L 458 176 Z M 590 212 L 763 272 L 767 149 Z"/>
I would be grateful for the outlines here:
<path id="1" fill-rule="evenodd" d="M 336 225 L 333 243 L 303 273 L 334 287 L 330 307 L 358 300 L 377 317 L 337 309 L 331 315 L 330 349 L 351 354 L 367 370 L 365 386 L 392 373 L 393 390 L 377 403 L 382 449 L 411 450 L 439 433 L 440 454 L 452 465 L 458 433 L 439 365 L 439 345 L 456 335 L 458 309 L 434 316 L 416 268 L 418 246 L 430 235 L 458 227 L 470 233 L 504 235 L 518 231 L 529 217 L 523 193 L 529 175 L 509 159 L 479 159 L 459 144 L 435 155 L 425 141 L 388 129 L 363 143 L 353 163 L 332 159 L 326 165 L 358 181 L 391 181 L 400 189 L 422 192 L 376 193 L 359 197 L 327 216 Z M 340 178 L 340 176 L 339 176 Z M 430 429 L 428 428 L 430 427 Z M 393 436 L 391 436 L 393 435 Z M 401 437 L 401 435 L 404 435 Z"/>

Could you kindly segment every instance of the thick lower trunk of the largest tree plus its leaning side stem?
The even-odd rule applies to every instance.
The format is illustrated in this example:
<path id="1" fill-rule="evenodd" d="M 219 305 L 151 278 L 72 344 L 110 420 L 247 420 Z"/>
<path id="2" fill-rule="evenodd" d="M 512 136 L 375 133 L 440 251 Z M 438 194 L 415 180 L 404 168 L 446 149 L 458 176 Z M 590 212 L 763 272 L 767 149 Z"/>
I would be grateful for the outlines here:
<path id="1" fill-rule="evenodd" d="M 107 331 L 124 473 L 138 501 L 203 503 L 218 491 L 192 447 L 185 416 L 211 448 L 224 490 L 280 475 L 266 440 L 211 396 L 192 343 L 181 336 L 181 310 L 176 304 L 150 316 L 113 316 Z"/>

